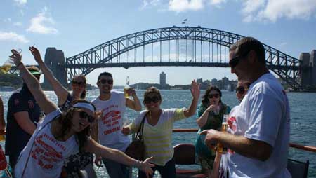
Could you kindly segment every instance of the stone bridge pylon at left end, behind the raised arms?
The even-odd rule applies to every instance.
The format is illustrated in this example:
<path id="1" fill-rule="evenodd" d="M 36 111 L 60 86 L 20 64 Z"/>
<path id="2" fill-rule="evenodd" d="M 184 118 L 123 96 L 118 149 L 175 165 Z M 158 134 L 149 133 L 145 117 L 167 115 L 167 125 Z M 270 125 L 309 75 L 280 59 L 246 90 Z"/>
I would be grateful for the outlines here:
<path id="1" fill-rule="evenodd" d="M 67 88 L 67 72 L 65 69 L 65 55 L 62 50 L 56 48 L 47 48 L 45 53 L 45 64 L 51 69 L 53 75 L 57 80 Z M 51 84 L 44 78 L 44 88 L 46 90 L 52 90 Z"/>

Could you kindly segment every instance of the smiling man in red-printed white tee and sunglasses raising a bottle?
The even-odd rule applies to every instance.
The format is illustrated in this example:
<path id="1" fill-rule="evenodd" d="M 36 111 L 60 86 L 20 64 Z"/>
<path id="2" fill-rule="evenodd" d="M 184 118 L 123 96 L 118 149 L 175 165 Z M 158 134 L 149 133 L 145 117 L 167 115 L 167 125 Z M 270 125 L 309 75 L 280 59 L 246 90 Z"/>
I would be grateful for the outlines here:
<path id="1" fill-rule="evenodd" d="M 142 109 L 140 101 L 133 88 L 127 90 L 127 93 L 133 97 L 133 100 L 125 98 L 124 93 L 113 91 L 113 77 L 108 72 L 103 72 L 98 76 L 97 85 L 100 95 L 92 103 L 96 106 L 97 111 L 101 111 L 103 114 L 98 121 L 98 141 L 100 144 L 112 149 L 125 151 L 130 143 L 129 137 L 121 133 L 125 107 L 140 111 Z M 95 163 L 98 165 L 99 161 L 100 157 L 96 158 Z M 110 177 L 129 177 L 129 167 L 126 165 L 105 158 L 103 158 L 103 163 Z"/>

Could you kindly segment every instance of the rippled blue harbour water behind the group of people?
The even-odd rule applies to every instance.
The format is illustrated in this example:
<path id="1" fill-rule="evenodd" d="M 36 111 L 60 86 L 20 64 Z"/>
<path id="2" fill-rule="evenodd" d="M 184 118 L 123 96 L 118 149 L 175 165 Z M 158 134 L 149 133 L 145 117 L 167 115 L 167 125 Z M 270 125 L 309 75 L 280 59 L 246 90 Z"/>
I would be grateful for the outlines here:
<path id="1" fill-rule="evenodd" d="M 145 90 L 137 90 L 136 93 L 141 101 L 143 101 L 143 93 Z M 162 90 L 162 108 L 182 108 L 188 107 L 192 97 L 190 90 Z M 6 119 L 7 102 L 12 92 L 0 92 L 2 100 L 4 100 L 4 112 Z M 201 96 L 204 90 L 201 91 Z M 57 102 L 55 93 L 47 91 L 46 95 Z M 288 93 L 289 103 L 291 107 L 291 139 L 290 142 L 316 146 L 316 93 Z M 87 93 L 87 100 L 93 100 L 98 96 L 98 90 L 91 90 Z M 236 99 L 234 92 L 223 91 L 222 101 L 230 107 L 237 105 L 239 102 Z M 126 109 L 126 119 L 131 122 L 136 118 L 138 112 L 131 109 Z M 197 128 L 195 116 L 187 118 L 175 123 L 174 128 Z M 175 133 L 173 134 L 173 145 L 179 143 L 194 143 L 196 133 Z M 4 142 L 0 143 L 4 146 Z M 289 158 L 295 160 L 310 160 L 310 168 L 308 177 L 316 177 L 316 153 L 301 151 L 298 149 L 290 149 Z M 104 167 L 96 168 L 98 177 L 108 177 Z M 157 176 L 159 177 L 159 176 Z"/>

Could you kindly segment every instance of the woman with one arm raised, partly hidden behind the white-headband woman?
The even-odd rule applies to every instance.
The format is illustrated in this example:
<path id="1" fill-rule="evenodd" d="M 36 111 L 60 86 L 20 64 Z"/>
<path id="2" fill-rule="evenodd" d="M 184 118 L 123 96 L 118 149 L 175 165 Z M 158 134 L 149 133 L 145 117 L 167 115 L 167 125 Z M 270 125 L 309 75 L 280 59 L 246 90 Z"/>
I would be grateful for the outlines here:
<path id="1" fill-rule="evenodd" d="M 86 78 L 85 76 L 74 76 L 72 78 L 72 94 L 62 86 L 62 84 L 53 76 L 53 73 L 46 66 L 45 62 L 41 59 L 39 50 L 34 46 L 29 47 L 34 59 L 39 64 L 39 68 L 43 72 L 45 78 L 51 83 L 55 94 L 58 97 L 58 107 L 61 111 L 67 111 L 72 107 L 74 100 L 84 100 L 86 97 Z M 70 156 L 62 167 L 62 177 L 79 177 L 80 170 L 86 170 L 88 177 L 96 177 L 96 172 L 93 170 L 93 155 L 85 151 Z"/>

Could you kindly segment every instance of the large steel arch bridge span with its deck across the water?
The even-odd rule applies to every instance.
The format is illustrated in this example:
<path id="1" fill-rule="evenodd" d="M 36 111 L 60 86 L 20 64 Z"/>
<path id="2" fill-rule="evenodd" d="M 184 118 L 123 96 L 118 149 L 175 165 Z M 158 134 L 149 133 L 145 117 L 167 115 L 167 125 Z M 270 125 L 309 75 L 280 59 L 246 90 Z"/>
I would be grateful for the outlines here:
<path id="1" fill-rule="evenodd" d="M 159 29 L 150 29 L 143 32 L 136 32 L 133 34 L 127 34 L 121 36 L 117 39 L 107 41 L 94 48 L 74 55 L 72 57 L 67 57 L 65 62 L 65 69 L 67 69 L 67 80 L 71 81 L 75 75 L 83 74 L 87 75 L 93 69 L 100 67 L 142 67 L 142 66 L 191 66 L 191 67 L 229 67 L 228 61 L 222 62 L 205 62 L 197 61 L 195 58 L 189 61 L 186 57 L 185 61 L 171 61 L 169 57 L 168 62 L 162 62 L 162 52 L 161 46 L 162 41 L 178 41 L 184 40 L 185 46 L 187 46 L 187 41 L 192 40 L 193 45 L 197 45 L 196 41 L 202 41 L 223 46 L 224 48 L 229 48 L 233 43 L 242 39 L 242 35 L 234 34 L 230 32 L 225 32 L 218 29 L 208 29 L 203 27 L 166 27 Z M 195 42 L 194 42 L 195 41 Z M 146 45 L 153 43 L 160 43 L 160 60 L 152 62 L 145 62 L 145 60 L 137 62 L 113 62 L 115 57 L 119 57 L 124 53 L 129 53 L 130 50 L 135 50 L 143 46 L 145 50 Z M 301 73 L 303 70 L 301 60 L 291 57 L 281 51 L 272 48 L 266 44 L 263 44 L 265 48 L 265 60 L 268 68 L 273 71 L 277 76 L 282 78 L 287 84 L 291 85 L 291 88 L 295 90 L 300 90 L 303 88 L 301 83 Z M 178 48 L 178 47 L 177 47 Z M 178 49 L 177 49 L 178 50 Z M 178 52 L 178 51 L 177 51 Z M 136 53 L 136 52 L 135 52 Z M 145 52 L 143 52 L 145 53 Z M 187 52 L 186 52 L 187 53 Z M 193 53 L 196 53 L 193 49 Z M 202 54 L 202 52 L 201 52 Z M 170 47 L 169 47 L 170 56 Z M 177 54 L 178 56 L 178 54 Z M 201 57 L 202 59 L 202 57 Z M 221 58 L 220 58 L 221 59 Z"/>

